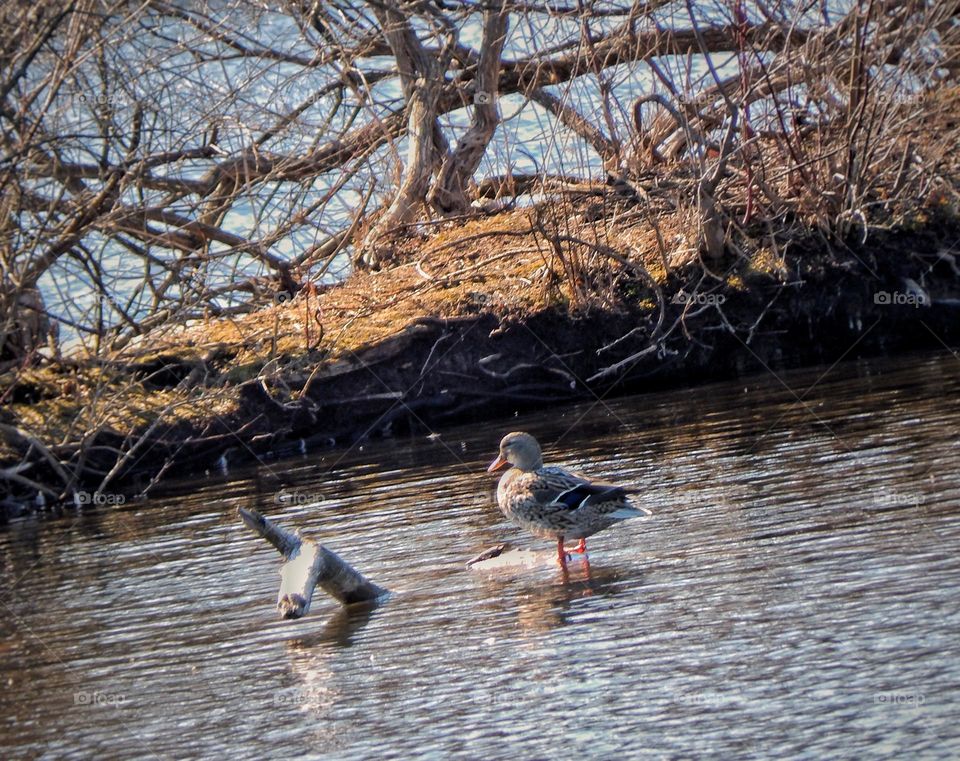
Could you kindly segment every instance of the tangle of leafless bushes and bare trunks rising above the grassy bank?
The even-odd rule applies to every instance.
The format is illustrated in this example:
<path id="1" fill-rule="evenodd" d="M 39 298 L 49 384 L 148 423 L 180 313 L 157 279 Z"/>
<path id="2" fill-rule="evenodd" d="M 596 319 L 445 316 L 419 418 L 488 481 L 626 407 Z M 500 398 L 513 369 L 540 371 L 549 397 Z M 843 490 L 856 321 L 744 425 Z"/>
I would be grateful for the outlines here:
<path id="1" fill-rule="evenodd" d="M 570 185 L 625 188 L 651 225 L 670 195 L 708 257 L 751 225 L 866 234 L 956 192 L 956 120 L 930 125 L 958 9 L 4 3 L 0 372 L 17 383 L 64 344 L 108 362 L 159 326 L 379 267 L 425 220 Z M 610 224 L 540 214 L 574 301 L 609 290 L 616 256 L 640 267 Z"/>

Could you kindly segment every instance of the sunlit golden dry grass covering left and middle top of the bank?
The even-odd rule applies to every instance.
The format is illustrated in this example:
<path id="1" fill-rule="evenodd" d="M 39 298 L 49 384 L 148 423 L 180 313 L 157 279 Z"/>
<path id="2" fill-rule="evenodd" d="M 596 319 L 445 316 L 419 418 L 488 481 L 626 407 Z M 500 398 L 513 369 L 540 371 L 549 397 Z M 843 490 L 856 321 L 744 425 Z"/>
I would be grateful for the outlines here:
<path id="1" fill-rule="evenodd" d="M 643 215 L 625 216 L 611 227 L 595 216 L 596 202 L 589 197 L 546 208 L 547 222 L 543 207 L 517 209 L 447 223 L 432 235 L 402 237 L 396 256 L 403 264 L 357 271 L 338 285 L 304 289 L 291 300 L 237 318 L 165 326 L 132 342 L 107 365 L 78 358 L 70 373 L 53 367 L 22 372 L 18 385 L 35 387 L 40 398 L 17 401 L 11 412 L 23 430 L 50 443 L 75 441 L 88 431 L 128 435 L 158 418 L 172 425 L 228 416 L 238 409 L 240 383 L 282 370 L 296 387 L 318 366 L 349 360 L 420 318 L 492 313 L 510 320 L 551 307 L 616 308 L 616 285 L 626 269 L 593 244 L 609 247 L 661 282 L 662 241 L 674 250 L 671 267 L 682 259 L 676 252 L 692 245 L 681 231 L 682 215 L 661 219 L 658 236 Z M 543 232 L 534 231 L 538 221 L 548 235 L 586 245 L 564 240 L 558 251 Z M 580 278 L 570 276 L 575 259 Z M 218 349 L 229 356 L 227 367 L 205 387 L 158 390 L 123 370 L 198 361 Z"/>

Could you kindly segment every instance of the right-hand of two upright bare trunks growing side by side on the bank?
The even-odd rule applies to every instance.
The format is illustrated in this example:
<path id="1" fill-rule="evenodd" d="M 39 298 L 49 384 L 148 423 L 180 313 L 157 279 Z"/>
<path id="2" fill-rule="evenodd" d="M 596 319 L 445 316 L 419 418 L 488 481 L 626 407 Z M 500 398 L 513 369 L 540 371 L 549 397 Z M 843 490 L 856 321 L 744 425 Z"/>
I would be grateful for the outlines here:
<path id="1" fill-rule="evenodd" d="M 500 54 L 507 38 L 510 14 L 506 2 L 483 13 L 483 41 L 473 92 L 473 121 L 456 150 L 443 162 L 440 175 L 427 201 L 441 214 L 458 214 L 470 206 L 467 184 L 480 166 L 487 145 L 500 123 L 497 105 L 500 78 Z"/>

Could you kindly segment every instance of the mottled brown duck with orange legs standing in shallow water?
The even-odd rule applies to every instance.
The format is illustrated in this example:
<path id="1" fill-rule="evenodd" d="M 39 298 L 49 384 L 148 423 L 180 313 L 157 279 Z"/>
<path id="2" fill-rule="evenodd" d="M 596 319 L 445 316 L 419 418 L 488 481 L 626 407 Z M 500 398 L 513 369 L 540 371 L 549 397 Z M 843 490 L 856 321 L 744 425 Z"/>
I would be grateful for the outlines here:
<path id="1" fill-rule="evenodd" d="M 650 511 L 630 504 L 623 486 L 596 481 L 545 466 L 540 444 L 529 433 L 513 431 L 500 442 L 500 452 L 487 471 L 512 467 L 497 485 L 500 511 L 521 528 L 557 542 L 557 561 L 566 568 L 568 553 L 586 555 L 587 537 Z M 564 541 L 579 540 L 568 550 Z"/>

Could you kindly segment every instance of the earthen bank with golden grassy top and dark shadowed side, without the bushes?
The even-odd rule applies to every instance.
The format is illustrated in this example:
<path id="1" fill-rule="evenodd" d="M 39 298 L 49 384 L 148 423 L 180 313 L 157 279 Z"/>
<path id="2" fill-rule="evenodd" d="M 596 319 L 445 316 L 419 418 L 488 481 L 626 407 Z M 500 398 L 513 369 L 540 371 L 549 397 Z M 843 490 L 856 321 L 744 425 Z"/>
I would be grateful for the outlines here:
<path id="1" fill-rule="evenodd" d="M 35 504 L 35 485 L 47 502 L 65 482 L 133 495 L 224 456 L 960 343 L 950 209 L 705 263 L 679 215 L 652 226 L 631 208 L 588 190 L 561 225 L 532 207 L 421 230 L 396 241 L 409 263 L 22 373 L 0 420 L 19 477 L 5 509 Z"/>

